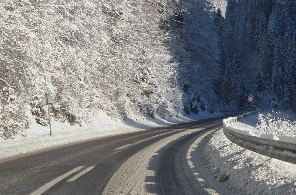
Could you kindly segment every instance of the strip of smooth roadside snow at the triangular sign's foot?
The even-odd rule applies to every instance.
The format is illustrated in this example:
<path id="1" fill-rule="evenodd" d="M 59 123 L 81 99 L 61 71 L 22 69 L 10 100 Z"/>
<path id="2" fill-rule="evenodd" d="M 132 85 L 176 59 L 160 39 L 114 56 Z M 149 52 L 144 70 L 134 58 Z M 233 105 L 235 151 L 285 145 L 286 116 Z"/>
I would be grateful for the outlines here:
<path id="1" fill-rule="evenodd" d="M 41 126 L 35 120 L 31 120 L 30 129 L 25 129 L 25 136 L 17 136 L 14 139 L 0 139 L 0 160 L 43 150 L 63 144 L 69 144 L 82 140 L 110 136 L 114 134 L 139 131 L 141 129 L 150 129 L 153 127 L 166 126 L 181 122 L 194 121 L 198 119 L 221 116 L 221 113 L 200 113 L 200 115 L 185 115 L 178 118 L 155 118 L 138 119 L 136 116 L 122 121 L 115 121 L 105 113 L 98 113 L 93 117 L 93 122 L 86 126 L 70 126 L 67 123 L 60 123 L 52 120 L 52 136 L 49 135 L 49 126 Z"/>

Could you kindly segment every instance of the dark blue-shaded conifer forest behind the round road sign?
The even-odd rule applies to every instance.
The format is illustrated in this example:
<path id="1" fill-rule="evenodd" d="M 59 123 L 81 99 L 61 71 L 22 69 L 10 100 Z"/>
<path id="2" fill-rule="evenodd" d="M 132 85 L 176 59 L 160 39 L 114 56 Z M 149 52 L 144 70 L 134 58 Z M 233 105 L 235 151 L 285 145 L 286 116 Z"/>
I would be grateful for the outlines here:
<path id="1" fill-rule="evenodd" d="M 228 0 L 225 17 L 215 12 L 220 105 L 296 112 L 296 2 Z"/>

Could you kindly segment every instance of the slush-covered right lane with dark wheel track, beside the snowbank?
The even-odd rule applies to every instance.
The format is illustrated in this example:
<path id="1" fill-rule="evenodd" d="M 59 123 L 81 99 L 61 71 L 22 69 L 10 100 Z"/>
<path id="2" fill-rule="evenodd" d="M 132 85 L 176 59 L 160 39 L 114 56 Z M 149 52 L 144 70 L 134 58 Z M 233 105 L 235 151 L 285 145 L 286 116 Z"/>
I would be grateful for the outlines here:
<path id="1" fill-rule="evenodd" d="M 205 140 L 220 123 L 172 135 L 136 153 L 115 172 L 103 194 L 234 194 L 200 160 Z"/>

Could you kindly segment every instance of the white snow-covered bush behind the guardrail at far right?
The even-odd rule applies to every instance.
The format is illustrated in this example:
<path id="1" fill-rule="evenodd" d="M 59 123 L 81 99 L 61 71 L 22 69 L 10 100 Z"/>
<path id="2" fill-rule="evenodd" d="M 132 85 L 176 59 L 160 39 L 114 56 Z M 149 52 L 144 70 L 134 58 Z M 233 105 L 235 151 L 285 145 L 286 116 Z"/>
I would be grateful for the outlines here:
<path id="1" fill-rule="evenodd" d="M 288 113 L 272 111 L 266 116 L 258 113 L 257 134 L 274 134 L 276 136 L 296 137 L 296 121 L 291 122 Z"/>

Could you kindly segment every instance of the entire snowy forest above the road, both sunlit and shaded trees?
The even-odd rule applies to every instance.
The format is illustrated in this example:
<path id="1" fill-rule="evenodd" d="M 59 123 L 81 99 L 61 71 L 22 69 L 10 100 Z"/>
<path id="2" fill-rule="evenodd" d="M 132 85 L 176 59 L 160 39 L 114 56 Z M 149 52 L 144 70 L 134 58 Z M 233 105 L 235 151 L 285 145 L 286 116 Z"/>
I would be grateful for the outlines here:
<path id="1" fill-rule="evenodd" d="M 54 120 L 81 126 L 98 112 L 296 112 L 295 1 L 214 5 L 226 1 L 3 1 L 0 137 L 47 125 L 46 90 Z"/>

